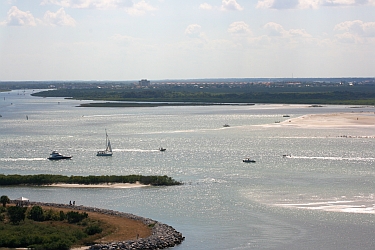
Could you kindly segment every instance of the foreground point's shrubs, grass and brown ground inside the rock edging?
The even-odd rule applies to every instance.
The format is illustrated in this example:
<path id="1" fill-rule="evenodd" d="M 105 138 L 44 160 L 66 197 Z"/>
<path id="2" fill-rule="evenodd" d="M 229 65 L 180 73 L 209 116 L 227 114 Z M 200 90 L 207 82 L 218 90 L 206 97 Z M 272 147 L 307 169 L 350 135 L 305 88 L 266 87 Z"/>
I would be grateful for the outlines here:
<path id="1" fill-rule="evenodd" d="M 42 217 L 38 216 L 36 219 L 35 208 L 38 207 L 42 211 L 38 215 L 41 214 Z M 100 209 L 93 212 L 82 207 L 39 202 L 32 202 L 27 207 L 17 207 L 23 209 L 25 217 L 12 223 L 8 215 L 11 208 L 16 208 L 15 204 L 0 207 L 0 249 L 31 247 L 39 250 L 65 250 L 96 243 L 135 240 L 137 236 L 147 238 L 152 230 L 141 220 L 103 214 Z M 71 215 L 80 217 L 80 220 L 71 220 Z"/>

